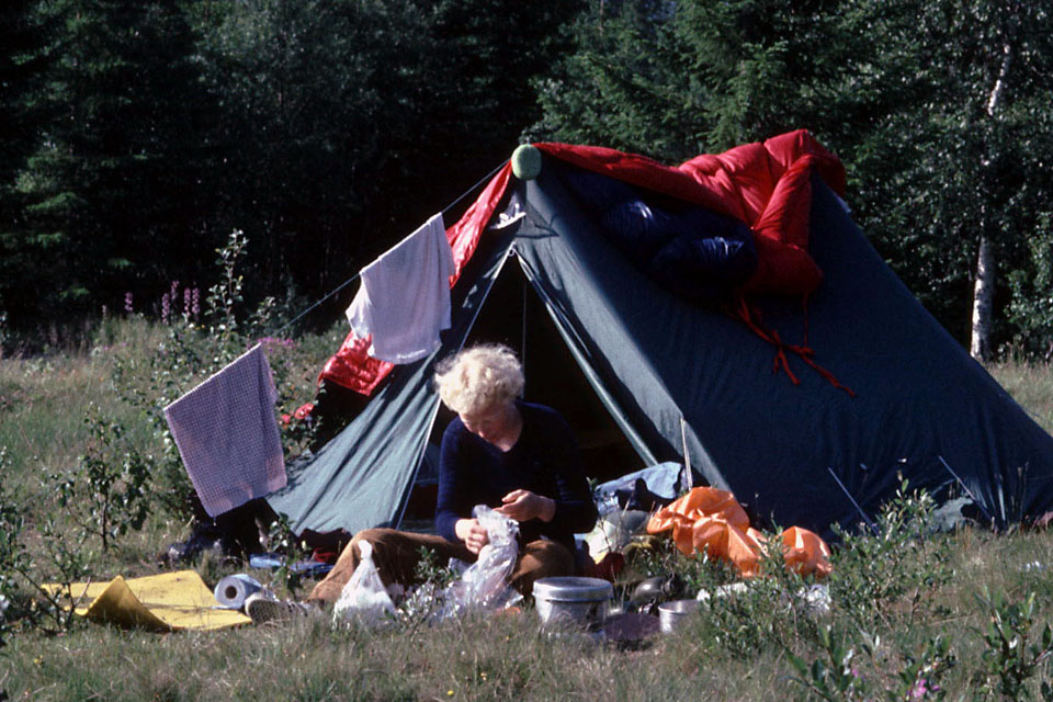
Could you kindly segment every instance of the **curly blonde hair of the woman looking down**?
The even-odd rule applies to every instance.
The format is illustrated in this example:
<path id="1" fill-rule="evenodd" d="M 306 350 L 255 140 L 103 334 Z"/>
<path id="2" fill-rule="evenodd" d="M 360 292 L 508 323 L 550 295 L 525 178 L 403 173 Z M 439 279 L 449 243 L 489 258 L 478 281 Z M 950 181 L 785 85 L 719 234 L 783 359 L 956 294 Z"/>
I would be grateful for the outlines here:
<path id="1" fill-rule="evenodd" d="M 525 378 L 516 352 L 483 343 L 444 359 L 435 369 L 442 403 L 458 415 L 478 415 L 522 395 Z"/>

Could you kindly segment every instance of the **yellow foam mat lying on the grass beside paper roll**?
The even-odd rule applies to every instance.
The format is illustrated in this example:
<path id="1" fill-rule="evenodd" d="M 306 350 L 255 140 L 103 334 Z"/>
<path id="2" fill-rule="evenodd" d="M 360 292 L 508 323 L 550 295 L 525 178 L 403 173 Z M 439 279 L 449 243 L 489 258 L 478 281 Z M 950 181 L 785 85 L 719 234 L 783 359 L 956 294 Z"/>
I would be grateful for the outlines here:
<path id="1" fill-rule="evenodd" d="M 52 595 L 60 585 L 45 585 Z M 237 610 L 219 609 L 219 602 L 194 570 L 178 570 L 110 582 L 76 582 L 70 595 L 76 612 L 95 622 L 171 632 L 213 630 L 250 624 Z M 67 605 L 68 609 L 69 605 Z"/>

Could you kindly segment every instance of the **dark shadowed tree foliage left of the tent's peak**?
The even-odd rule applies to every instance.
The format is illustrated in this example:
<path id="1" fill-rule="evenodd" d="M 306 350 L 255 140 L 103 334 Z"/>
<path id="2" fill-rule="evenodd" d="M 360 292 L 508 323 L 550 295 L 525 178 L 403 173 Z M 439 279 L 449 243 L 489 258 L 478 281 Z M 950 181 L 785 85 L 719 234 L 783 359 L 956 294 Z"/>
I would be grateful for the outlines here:
<path id="1" fill-rule="evenodd" d="M 233 228 L 253 240 L 248 295 L 331 287 L 507 158 L 576 10 L 15 5 L 0 75 L 19 86 L 5 125 L 26 128 L 7 145 L 0 308 L 23 328 L 207 287 Z"/>

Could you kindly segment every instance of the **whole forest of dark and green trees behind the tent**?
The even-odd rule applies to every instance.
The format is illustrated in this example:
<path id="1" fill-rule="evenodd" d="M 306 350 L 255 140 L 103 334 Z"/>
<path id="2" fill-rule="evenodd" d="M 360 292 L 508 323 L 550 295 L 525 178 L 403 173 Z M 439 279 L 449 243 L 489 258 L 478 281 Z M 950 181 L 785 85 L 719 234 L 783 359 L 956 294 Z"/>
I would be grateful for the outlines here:
<path id="1" fill-rule="evenodd" d="M 974 356 L 1049 360 L 1051 30 L 1017 0 L 11 0 L 0 353 L 189 313 L 233 230 L 291 318 L 520 143 L 676 165 L 804 127 Z"/>

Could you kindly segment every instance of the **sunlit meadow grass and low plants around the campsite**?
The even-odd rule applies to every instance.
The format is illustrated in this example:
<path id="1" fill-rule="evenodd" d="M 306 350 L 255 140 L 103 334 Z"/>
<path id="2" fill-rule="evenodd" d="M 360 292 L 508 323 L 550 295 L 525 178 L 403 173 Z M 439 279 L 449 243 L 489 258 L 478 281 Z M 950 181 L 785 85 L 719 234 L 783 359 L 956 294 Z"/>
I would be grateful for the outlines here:
<path id="1" fill-rule="evenodd" d="M 47 516 L 63 514 L 46 476 L 68 475 L 79 465 L 89 405 L 126 427 L 122 450 L 165 453 L 147 409 L 121 395 L 129 384 L 149 390 L 158 347 L 168 344 L 174 353 L 171 331 L 141 318 L 111 319 L 89 348 L 0 360 L 0 446 L 9 454 L 2 483 L 8 499 L 27 508 L 25 543 L 42 577 L 49 567 L 54 573 L 54 564 L 42 557 L 39 529 Z M 310 398 L 314 375 L 339 341 L 335 329 L 271 354 L 283 411 Z M 992 372 L 1051 428 L 1053 370 L 1007 363 Z M 912 499 L 905 496 L 899 512 L 886 516 L 890 523 L 902 518 L 906 528 L 890 530 L 884 542 L 835 552 L 828 614 L 788 609 L 783 592 L 803 584 L 778 574 L 745 596 L 717 602 L 686 630 L 630 648 L 543 630 L 529 608 L 518 615 L 380 630 L 332 629 L 312 619 L 170 635 L 81 621 L 48 634 L 23 619 L 0 648 L 0 690 L 12 700 L 1042 699 L 1041 683 L 1053 671 L 1049 658 L 1035 658 L 1043 626 L 1053 621 L 1053 537 L 1044 531 L 912 531 L 925 512 Z M 72 539 L 69 523 L 59 523 Z M 156 511 L 105 554 L 89 541 L 75 545 L 92 552 L 95 579 L 146 575 L 165 568 L 158 554 L 185 537 L 186 528 L 178 516 Z M 676 569 L 694 584 L 727 578 L 726 570 L 686 559 L 668 545 L 633 565 L 645 574 Z M 272 577 L 211 557 L 195 567 L 210 585 L 228 573 Z M 981 599 L 985 592 L 989 603 Z M 995 602 L 995 593 L 1005 600 Z M 1033 611 L 1021 614 L 1019 605 L 1032 595 Z M 989 638 L 999 618 L 1017 639 L 1005 649 Z M 938 636 L 948 641 L 943 657 L 931 644 Z M 1029 652 L 1031 645 L 1039 648 Z M 835 675 L 843 660 L 843 675 Z M 1011 663 L 1027 673 L 1017 688 L 1006 677 Z M 901 678 L 912 665 L 931 683 L 920 697 L 912 697 L 918 676 L 909 683 Z"/>

